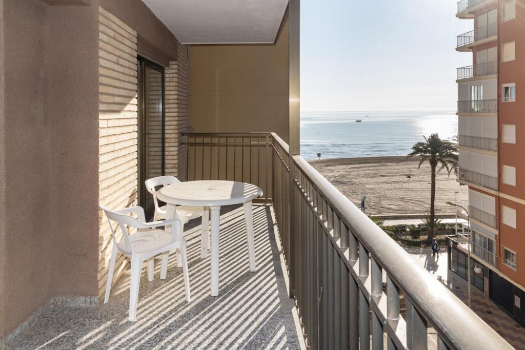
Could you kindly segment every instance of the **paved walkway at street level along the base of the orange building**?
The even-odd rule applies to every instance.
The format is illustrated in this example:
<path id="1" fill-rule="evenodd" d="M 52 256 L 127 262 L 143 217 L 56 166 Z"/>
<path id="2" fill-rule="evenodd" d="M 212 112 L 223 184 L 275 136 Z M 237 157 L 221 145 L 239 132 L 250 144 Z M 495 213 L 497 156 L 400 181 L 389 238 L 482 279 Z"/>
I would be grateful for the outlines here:
<path id="1" fill-rule="evenodd" d="M 447 268 L 447 252 L 442 249 L 439 257 L 432 257 L 430 248 L 403 247 L 417 263 L 420 263 L 436 279 L 450 289 L 461 301 L 468 303 L 467 281 Z M 471 291 L 471 309 L 489 324 L 498 334 L 516 349 L 525 350 L 525 328 L 514 322 L 512 317 L 501 310 L 474 285 Z"/>

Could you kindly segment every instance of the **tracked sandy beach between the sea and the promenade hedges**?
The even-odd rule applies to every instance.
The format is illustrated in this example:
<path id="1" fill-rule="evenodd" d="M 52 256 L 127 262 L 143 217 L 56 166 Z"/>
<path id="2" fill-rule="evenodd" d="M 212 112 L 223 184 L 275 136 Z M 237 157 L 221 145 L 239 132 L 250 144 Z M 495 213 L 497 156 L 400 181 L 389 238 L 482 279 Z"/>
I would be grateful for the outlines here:
<path id="1" fill-rule="evenodd" d="M 429 211 L 430 166 L 424 163 L 418 169 L 418 158 L 338 158 L 309 163 L 355 205 L 360 206 L 361 197 L 366 195 L 367 214 L 426 214 Z M 454 172 L 450 177 L 446 169 L 437 173 L 436 213 L 454 213 L 445 202 L 454 201 L 456 191 L 459 200 L 468 200 L 467 186 L 456 182 Z"/>

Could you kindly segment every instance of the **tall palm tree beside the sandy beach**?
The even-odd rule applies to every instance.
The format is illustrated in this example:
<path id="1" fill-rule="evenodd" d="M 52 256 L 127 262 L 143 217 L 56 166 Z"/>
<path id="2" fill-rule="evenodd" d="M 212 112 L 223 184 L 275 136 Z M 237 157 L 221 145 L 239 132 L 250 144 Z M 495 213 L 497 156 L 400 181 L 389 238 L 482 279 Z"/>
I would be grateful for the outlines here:
<path id="1" fill-rule="evenodd" d="M 412 146 L 412 153 L 408 154 L 408 157 L 421 157 L 417 168 L 420 168 L 424 162 L 430 163 L 430 218 L 427 240 L 432 241 L 435 227 L 436 173 L 445 168 L 448 176 L 452 171 L 457 174 L 458 149 L 456 143 L 442 140 L 438 134 L 423 136 L 423 138 L 424 142 L 418 142 Z M 438 165 L 441 167 L 436 171 Z"/>

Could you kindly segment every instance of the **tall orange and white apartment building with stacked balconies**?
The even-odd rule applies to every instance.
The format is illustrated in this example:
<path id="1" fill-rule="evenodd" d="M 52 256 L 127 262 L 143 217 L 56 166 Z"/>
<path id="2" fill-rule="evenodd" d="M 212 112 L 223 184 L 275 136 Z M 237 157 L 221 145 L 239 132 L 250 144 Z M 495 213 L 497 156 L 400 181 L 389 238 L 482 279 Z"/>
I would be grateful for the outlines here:
<path id="1" fill-rule="evenodd" d="M 472 284 L 525 325 L 525 2 L 462 0 L 456 17 L 474 25 L 456 47 L 472 55 L 472 65 L 457 69 L 457 115 L 458 181 L 469 188 L 468 204 L 458 204 L 470 219 L 474 263 L 467 267 L 468 245 L 459 244 L 449 248 L 449 267 L 465 278 L 470 271 Z"/>

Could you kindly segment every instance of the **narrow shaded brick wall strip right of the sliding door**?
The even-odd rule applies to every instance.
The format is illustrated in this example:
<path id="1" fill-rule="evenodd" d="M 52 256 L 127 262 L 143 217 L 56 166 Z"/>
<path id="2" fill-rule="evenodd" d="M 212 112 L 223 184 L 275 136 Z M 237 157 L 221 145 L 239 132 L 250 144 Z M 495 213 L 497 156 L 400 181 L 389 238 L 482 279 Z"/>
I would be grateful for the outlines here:
<path id="1" fill-rule="evenodd" d="M 181 132 L 187 131 L 188 118 L 188 47 L 178 43 L 177 61 L 165 70 L 165 173 L 186 179 L 186 146 Z"/>

